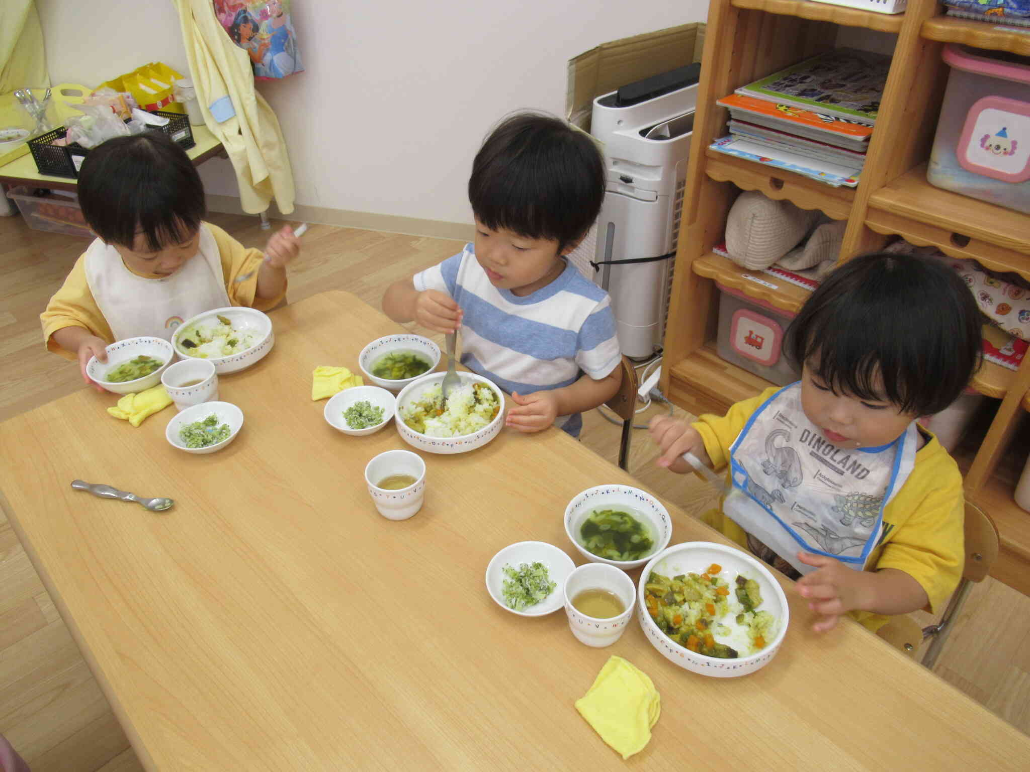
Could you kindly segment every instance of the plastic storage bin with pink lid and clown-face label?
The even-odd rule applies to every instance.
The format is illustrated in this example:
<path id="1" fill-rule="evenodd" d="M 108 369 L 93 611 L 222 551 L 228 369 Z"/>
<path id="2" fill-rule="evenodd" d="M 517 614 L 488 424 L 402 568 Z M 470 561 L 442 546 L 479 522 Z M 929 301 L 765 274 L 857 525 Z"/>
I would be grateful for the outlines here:
<path id="1" fill-rule="evenodd" d="M 953 43 L 941 58 L 952 72 L 927 180 L 1030 212 L 1030 59 Z"/>

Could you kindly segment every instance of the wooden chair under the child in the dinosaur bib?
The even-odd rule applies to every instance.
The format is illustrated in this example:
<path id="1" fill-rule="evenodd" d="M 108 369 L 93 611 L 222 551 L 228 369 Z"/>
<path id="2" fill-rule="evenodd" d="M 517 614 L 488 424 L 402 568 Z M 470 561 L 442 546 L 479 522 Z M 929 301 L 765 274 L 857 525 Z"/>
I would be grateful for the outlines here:
<path id="1" fill-rule="evenodd" d="M 976 504 L 965 504 L 965 566 L 962 580 L 952 595 L 940 622 L 920 629 L 911 617 L 895 617 L 877 633 L 881 638 L 915 658 L 920 644 L 932 638 L 923 657 L 923 664 L 932 668 L 945 641 L 952 631 L 952 623 L 972 590 L 974 582 L 983 582 L 998 557 L 998 529 L 990 516 Z"/>

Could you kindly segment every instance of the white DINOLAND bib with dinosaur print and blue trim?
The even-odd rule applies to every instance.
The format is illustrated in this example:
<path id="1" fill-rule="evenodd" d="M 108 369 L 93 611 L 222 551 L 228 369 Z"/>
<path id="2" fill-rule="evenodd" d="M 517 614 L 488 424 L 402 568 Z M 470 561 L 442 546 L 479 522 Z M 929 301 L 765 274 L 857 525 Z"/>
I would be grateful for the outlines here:
<path id="1" fill-rule="evenodd" d="M 846 450 L 801 410 L 800 383 L 755 411 L 729 449 L 723 512 L 801 573 L 799 551 L 861 570 L 883 531 L 884 506 L 916 463 L 915 421 L 881 448 Z"/>

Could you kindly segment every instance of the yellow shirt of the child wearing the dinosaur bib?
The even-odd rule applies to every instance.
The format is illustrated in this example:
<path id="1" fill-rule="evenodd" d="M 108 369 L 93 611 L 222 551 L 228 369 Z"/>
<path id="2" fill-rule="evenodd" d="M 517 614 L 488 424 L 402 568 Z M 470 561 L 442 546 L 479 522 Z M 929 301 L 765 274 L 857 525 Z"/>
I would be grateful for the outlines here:
<path id="1" fill-rule="evenodd" d="M 713 468 L 729 463 L 729 448 L 748 419 L 779 390 L 766 389 L 737 402 L 725 416 L 706 415 L 692 424 L 705 441 Z M 866 570 L 904 571 L 926 591 L 930 610 L 936 613 L 962 576 L 965 514 L 962 473 L 936 437 L 929 437 L 916 452 L 908 479 L 884 507 L 884 535 L 870 553 Z M 744 529 L 720 510 L 706 513 L 702 519 L 747 549 Z M 873 631 L 889 619 L 869 611 L 853 611 L 852 616 Z"/>

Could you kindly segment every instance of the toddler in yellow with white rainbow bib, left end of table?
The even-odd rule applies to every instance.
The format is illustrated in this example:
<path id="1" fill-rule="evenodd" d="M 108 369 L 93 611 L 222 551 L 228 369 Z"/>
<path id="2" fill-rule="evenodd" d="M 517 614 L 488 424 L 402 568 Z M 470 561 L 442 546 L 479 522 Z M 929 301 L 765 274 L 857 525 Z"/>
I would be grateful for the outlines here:
<path id="1" fill-rule="evenodd" d="M 264 311 L 285 294 L 285 268 L 300 252 L 293 230 L 274 234 L 262 253 L 204 222 L 200 175 L 163 134 L 117 137 L 92 150 L 78 199 L 97 238 L 40 319 L 46 348 L 77 358 L 88 384 L 90 357 L 106 361 L 115 341 L 171 340 L 191 316 L 227 306 Z"/>

